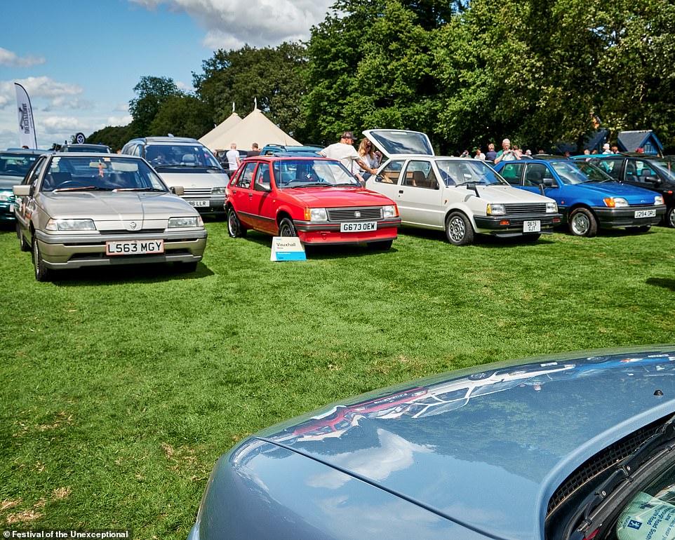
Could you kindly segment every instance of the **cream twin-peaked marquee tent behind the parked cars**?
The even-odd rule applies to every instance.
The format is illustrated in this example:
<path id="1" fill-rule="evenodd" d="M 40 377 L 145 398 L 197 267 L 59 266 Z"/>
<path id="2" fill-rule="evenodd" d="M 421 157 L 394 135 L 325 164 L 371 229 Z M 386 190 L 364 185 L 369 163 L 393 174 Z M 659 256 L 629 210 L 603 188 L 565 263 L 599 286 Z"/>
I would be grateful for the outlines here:
<path id="1" fill-rule="evenodd" d="M 234 115 L 235 113 L 232 114 Z M 218 133 L 218 137 L 213 137 L 209 142 L 205 142 L 206 137 L 218 128 L 201 137 L 199 142 L 212 150 L 228 149 L 232 142 L 236 143 L 236 147 L 240 150 L 250 149 L 251 144 L 254 142 L 257 142 L 261 149 L 265 144 L 290 144 L 295 146 L 301 144 L 276 126 L 274 122 L 267 119 L 267 116 L 262 114 L 258 108 L 253 109 L 246 118 L 234 124 L 229 130 L 220 132 Z"/>

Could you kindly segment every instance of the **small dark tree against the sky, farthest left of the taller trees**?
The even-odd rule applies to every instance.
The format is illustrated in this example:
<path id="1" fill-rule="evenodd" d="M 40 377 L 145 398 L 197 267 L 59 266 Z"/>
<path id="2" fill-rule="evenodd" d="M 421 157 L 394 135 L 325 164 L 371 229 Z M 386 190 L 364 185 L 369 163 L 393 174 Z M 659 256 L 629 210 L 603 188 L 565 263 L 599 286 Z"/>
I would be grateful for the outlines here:
<path id="1" fill-rule="evenodd" d="M 161 104 L 169 97 L 184 95 L 170 77 L 142 76 L 133 91 L 138 97 L 129 102 L 129 113 L 133 118 L 130 126 L 132 138 L 149 135 Z"/>

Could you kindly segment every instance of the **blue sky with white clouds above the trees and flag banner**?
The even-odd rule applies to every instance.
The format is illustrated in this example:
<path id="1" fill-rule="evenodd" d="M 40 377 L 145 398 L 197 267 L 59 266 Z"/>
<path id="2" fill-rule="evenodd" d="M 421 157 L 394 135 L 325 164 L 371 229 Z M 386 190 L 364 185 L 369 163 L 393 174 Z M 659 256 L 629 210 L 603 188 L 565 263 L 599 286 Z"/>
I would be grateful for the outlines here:
<path id="1" fill-rule="evenodd" d="M 131 121 L 142 76 L 192 88 L 218 48 L 309 37 L 333 0 L 24 0 L 3 2 L 0 148 L 18 146 L 14 82 L 32 102 L 38 145 Z M 262 15 L 262 16 L 261 16 Z"/>

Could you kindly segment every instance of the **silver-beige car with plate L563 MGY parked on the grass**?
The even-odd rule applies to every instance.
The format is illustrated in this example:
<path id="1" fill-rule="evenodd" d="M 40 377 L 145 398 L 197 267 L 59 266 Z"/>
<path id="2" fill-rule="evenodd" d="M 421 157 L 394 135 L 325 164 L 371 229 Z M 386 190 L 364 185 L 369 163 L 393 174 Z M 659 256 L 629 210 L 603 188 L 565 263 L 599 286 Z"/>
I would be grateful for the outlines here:
<path id="1" fill-rule="evenodd" d="M 15 185 L 17 236 L 35 278 L 83 266 L 173 262 L 194 271 L 203 220 L 142 158 L 44 154 Z"/>

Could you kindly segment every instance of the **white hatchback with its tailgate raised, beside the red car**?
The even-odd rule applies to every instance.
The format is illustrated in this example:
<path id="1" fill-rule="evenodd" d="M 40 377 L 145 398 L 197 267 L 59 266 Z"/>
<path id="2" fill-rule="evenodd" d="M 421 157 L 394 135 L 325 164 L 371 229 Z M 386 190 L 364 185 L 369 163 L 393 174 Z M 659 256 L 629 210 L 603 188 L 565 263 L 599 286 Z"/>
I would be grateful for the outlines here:
<path id="1" fill-rule="evenodd" d="M 511 187 L 487 163 L 434 155 L 425 133 L 363 132 L 387 156 L 366 187 L 399 206 L 401 224 L 445 230 L 466 245 L 475 234 L 536 240 L 560 224 L 556 201 Z"/>

